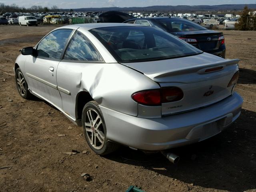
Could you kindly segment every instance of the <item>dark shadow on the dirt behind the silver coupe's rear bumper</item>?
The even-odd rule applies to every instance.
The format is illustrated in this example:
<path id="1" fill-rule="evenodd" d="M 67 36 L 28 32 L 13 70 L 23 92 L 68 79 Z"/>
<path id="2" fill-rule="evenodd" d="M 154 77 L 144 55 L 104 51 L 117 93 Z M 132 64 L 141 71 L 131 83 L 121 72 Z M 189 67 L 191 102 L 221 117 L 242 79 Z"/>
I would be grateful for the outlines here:
<path id="1" fill-rule="evenodd" d="M 256 113 L 242 114 L 226 131 L 208 140 L 173 149 L 180 156 L 172 164 L 162 154 L 146 155 L 122 147 L 106 158 L 152 170 L 204 188 L 244 191 L 256 188 Z"/>

